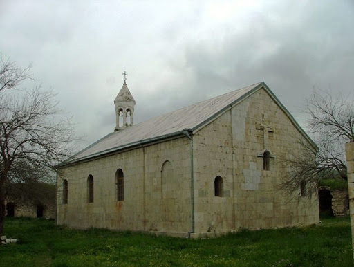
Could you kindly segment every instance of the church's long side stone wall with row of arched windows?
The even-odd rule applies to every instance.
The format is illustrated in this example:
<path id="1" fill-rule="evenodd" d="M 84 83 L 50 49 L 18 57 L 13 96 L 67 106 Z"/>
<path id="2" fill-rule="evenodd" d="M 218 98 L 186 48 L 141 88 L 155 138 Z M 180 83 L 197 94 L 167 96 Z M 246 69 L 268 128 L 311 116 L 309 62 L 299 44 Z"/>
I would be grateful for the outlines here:
<path id="1" fill-rule="evenodd" d="M 162 165 L 167 161 L 171 163 L 168 188 L 162 184 Z M 124 174 L 124 201 L 117 199 L 118 169 Z M 88 203 L 89 175 L 94 182 L 93 203 Z M 64 178 L 68 203 L 62 203 Z M 185 237 L 191 230 L 190 185 L 188 138 L 123 151 L 59 172 L 57 223 L 73 228 L 174 232 Z"/>

